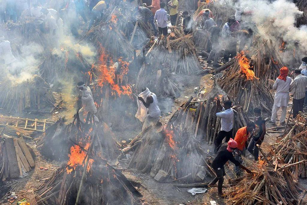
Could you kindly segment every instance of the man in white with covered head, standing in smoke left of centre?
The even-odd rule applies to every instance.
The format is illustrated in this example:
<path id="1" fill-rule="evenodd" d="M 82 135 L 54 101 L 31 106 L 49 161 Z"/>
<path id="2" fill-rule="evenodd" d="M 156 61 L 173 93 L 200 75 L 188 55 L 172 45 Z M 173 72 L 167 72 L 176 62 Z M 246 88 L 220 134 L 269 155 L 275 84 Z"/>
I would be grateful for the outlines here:
<path id="1" fill-rule="evenodd" d="M 79 110 L 79 114 L 81 112 L 87 111 L 94 115 L 95 122 L 99 122 L 99 119 L 95 115 L 95 113 L 97 112 L 97 108 L 94 103 L 91 88 L 85 86 L 85 83 L 82 81 L 77 83 L 77 87 L 79 88 L 80 91 L 82 91 L 81 95 L 82 108 Z"/>

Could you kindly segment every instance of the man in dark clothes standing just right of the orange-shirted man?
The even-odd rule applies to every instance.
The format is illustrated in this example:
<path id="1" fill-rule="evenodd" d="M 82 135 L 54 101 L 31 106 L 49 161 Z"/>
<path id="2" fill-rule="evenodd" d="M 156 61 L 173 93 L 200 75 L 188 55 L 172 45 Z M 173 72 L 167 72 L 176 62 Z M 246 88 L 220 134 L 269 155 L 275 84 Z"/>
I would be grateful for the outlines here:
<path id="1" fill-rule="evenodd" d="M 261 117 L 261 109 L 258 107 L 254 108 L 254 123 L 255 132 L 251 136 L 252 139 L 248 144 L 247 150 L 254 156 L 254 160 L 258 161 L 259 149 L 257 145 L 261 145 L 266 134 L 266 121 Z"/>

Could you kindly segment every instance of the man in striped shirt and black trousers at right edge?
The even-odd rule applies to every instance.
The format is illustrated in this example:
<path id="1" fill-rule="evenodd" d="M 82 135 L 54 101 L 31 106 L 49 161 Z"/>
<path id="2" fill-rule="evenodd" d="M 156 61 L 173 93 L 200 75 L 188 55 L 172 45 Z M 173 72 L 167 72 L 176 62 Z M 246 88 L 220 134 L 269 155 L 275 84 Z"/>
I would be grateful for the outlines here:
<path id="1" fill-rule="evenodd" d="M 300 69 L 295 69 L 294 80 L 290 85 L 290 95 L 293 95 L 293 118 L 297 116 L 299 111 L 303 111 L 303 104 L 305 99 L 305 90 L 307 86 L 307 77 L 301 75 Z"/>

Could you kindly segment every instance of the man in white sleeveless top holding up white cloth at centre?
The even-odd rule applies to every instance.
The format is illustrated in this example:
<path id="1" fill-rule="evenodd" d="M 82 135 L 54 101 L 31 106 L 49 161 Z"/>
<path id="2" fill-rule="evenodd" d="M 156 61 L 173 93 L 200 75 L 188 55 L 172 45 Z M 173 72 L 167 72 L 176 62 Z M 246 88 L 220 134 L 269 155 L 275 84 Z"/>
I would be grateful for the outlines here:
<path id="1" fill-rule="evenodd" d="M 150 92 L 147 87 L 142 88 L 142 92 L 138 95 L 137 103 L 138 111 L 135 117 L 144 122 L 142 130 L 145 130 L 150 125 L 156 125 L 161 115 L 156 94 Z M 149 114 L 147 114 L 147 111 Z"/>

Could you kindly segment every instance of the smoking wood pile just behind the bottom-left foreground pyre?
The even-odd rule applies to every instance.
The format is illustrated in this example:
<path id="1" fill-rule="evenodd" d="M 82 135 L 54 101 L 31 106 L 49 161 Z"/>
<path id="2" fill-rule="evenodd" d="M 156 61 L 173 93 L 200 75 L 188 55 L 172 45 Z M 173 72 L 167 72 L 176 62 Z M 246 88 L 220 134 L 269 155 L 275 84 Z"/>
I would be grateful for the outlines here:
<path id="1" fill-rule="evenodd" d="M 84 149 L 87 138 L 91 134 L 92 124 L 84 123 L 76 114 L 72 123 L 65 124 L 65 118 L 60 118 L 50 126 L 37 143 L 37 149 L 49 159 L 64 161 L 68 158 L 71 147 Z M 99 122 L 96 128 L 96 141 L 94 151 L 107 159 L 114 159 L 119 152 L 119 144 L 115 135 L 104 122 Z M 69 145 L 69 146 L 68 146 Z"/>

